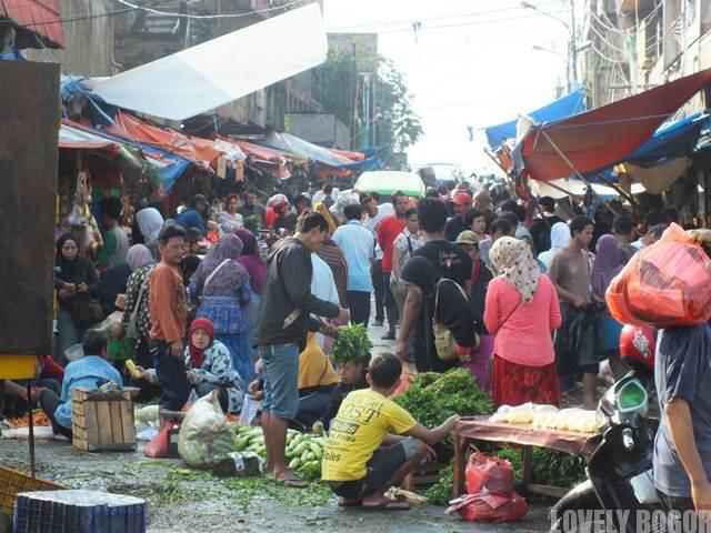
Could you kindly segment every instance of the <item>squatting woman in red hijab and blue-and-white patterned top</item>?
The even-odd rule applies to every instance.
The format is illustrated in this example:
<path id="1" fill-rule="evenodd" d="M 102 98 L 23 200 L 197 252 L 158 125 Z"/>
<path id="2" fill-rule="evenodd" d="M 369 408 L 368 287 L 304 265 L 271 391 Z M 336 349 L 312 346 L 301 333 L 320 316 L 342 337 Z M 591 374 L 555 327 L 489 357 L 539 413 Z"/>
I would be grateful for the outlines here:
<path id="1" fill-rule="evenodd" d="M 232 368 L 228 348 L 214 339 L 212 322 L 208 319 L 193 320 L 188 339 L 186 371 L 198 396 L 218 389 L 222 410 L 239 413 L 244 399 L 242 380 Z"/>

